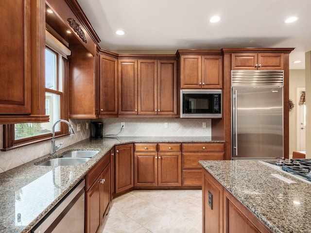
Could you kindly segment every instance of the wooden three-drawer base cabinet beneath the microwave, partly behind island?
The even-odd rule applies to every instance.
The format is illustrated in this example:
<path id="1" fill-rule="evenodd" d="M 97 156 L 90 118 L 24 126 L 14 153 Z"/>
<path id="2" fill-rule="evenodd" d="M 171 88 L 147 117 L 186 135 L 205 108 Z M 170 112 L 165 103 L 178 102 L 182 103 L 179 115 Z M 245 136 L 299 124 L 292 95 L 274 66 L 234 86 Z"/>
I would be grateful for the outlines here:
<path id="1" fill-rule="evenodd" d="M 182 185 L 201 186 L 202 166 L 200 160 L 224 160 L 224 143 L 182 144 Z"/>

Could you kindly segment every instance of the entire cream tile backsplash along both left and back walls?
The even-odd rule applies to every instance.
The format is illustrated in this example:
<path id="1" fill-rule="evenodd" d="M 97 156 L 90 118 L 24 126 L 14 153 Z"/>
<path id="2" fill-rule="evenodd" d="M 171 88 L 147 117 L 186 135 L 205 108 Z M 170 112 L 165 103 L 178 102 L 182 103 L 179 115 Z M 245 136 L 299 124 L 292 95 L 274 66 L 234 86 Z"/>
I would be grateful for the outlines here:
<path id="1" fill-rule="evenodd" d="M 121 122 L 125 123 L 124 129 L 118 136 L 211 136 L 211 119 L 195 118 L 99 118 L 99 119 L 70 119 L 75 134 L 55 139 L 55 144 L 63 142 L 67 147 L 84 140 L 90 136 L 90 128 L 86 124 L 90 121 L 104 122 L 104 134 L 117 134 L 121 130 Z M 202 128 L 202 123 L 206 128 Z M 81 130 L 77 131 L 77 124 Z M 167 123 L 168 128 L 165 128 Z M 0 125 L 0 148 L 2 148 L 2 125 Z M 49 154 L 51 140 L 35 143 L 15 150 L 0 151 L 0 173 L 16 166 L 28 163 L 34 159 Z"/>

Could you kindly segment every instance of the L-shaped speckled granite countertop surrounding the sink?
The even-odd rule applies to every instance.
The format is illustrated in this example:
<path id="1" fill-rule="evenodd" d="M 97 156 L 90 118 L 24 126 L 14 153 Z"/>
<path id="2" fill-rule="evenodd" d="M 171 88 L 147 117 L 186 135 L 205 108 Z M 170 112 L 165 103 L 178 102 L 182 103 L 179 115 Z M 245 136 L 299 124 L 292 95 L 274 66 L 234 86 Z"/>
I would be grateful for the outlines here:
<path id="1" fill-rule="evenodd" d="M 223 143 L 214 137 L 115 137 L 85 139 L 22 166 L 0 173 L 0 233 L 28 233 L 115 145 L 127 143 Z M 77 166 L 35 166 L 72 150 L 99 150 Z M 17 214 L 21 214 L 20 221 Z"/>

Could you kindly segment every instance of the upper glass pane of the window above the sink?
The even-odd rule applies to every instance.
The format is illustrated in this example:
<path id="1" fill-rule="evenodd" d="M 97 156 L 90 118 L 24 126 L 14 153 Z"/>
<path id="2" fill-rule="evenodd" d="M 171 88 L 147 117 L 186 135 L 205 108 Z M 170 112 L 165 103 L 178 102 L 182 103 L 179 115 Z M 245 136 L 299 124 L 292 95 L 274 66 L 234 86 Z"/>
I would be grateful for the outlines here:
<path id="1" fill-rule="evenodd" d="M 57 90 L 57 55 L 49 49 L 45 49 L 45 87 Z"/>

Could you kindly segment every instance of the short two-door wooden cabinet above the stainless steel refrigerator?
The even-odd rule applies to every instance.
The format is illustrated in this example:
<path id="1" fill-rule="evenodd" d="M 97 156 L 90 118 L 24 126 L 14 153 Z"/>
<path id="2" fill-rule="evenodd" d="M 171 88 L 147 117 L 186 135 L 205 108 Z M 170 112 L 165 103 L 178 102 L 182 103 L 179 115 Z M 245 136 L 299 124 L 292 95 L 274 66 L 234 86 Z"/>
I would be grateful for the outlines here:
<path id="1" fill-rule="evenodd" d="M 232 69 L 283 69 L 283 53 L 232 53 Z"/>

